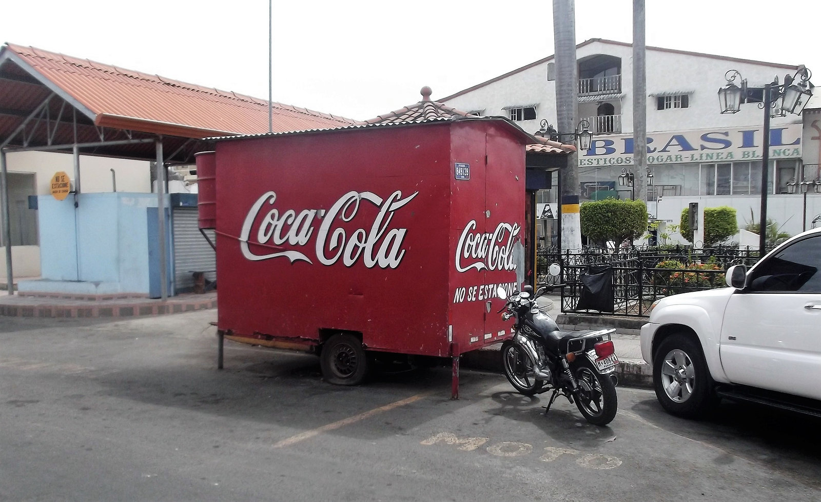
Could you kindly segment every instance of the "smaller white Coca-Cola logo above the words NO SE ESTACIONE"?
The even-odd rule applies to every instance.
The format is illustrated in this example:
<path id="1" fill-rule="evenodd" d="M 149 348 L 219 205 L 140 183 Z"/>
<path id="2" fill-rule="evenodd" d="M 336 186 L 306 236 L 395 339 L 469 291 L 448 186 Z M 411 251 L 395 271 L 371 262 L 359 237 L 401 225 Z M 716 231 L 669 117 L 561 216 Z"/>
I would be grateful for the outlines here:
<path id="1" fill-rule="evenodd" d="M 519 238 L 518 223 L 499 223 L 492 233 L 475 232 L 476 220 L 471 220 L 462 230 L 456 246 L 456 271 L 515 270 L 513 244 Z"/>

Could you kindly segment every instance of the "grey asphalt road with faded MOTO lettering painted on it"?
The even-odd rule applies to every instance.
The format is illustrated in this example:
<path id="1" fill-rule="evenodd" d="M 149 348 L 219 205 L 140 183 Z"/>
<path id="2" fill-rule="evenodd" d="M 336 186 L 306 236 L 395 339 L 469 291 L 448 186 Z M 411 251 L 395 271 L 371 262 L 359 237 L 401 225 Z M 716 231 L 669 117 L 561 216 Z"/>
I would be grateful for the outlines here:
<path id="1" fill-rule="evenodd" d="M 0 318 L 0 500 L 819 500 L 821 421 L 673 418 L 618 389 L 610 427 L 450 369 L 330 386 L 314 356 L 227 342 L 214 311 Z M 546 395 L 545 395 L 546 396 Z"/>

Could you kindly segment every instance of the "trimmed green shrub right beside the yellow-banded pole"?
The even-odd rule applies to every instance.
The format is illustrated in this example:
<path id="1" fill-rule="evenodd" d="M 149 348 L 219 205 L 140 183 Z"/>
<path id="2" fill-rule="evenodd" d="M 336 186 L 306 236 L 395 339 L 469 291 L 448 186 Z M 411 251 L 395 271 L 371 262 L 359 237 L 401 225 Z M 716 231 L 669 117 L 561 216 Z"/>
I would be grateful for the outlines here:
<path id="1" fill-rule="evenodd" d="M 604 199 L 581 204 L 581 233 L 604 246 L 638 239 L 647 230 L 647 207 L 640 200 Z"/>

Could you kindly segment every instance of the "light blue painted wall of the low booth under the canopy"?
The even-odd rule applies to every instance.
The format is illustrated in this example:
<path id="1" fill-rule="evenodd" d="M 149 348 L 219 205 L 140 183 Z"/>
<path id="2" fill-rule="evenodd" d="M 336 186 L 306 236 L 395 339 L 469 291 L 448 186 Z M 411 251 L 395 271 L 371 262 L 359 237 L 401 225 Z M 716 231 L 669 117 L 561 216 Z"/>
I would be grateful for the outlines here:
<path id="1" fill-rule="evenodd" d="M 73 194 L 64 201 L 38 198 L 43 279 L 80 281 L 57 288 L 66 292 L 86 293 L 89 288 L 82 283 L 95 283 L 96 292 L 148 294 L 146 209 L 157 207 L 157 195 L 80 194 L 77 202 L 75 209 Z M 170 229 L 170 221 L 166 225 Z M 170 263 L 168 269 L 171 275 Z"/>

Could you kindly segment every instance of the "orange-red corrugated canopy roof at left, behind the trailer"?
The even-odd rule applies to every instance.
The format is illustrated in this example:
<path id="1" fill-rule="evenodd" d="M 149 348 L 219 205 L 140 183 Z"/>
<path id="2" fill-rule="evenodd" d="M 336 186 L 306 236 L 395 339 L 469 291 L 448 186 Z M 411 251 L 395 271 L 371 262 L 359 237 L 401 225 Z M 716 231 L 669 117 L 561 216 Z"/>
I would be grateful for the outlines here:
<path id="1" fill-rule="evenodd" d="M 96 126 L 204 138 L 268 132 L 268 101 L 87 59 L 7 43 L 11 59 L 64 98 Z M 27 67 L 26 67 L 27 66 Z M 328 129 L 360 122 L 273 103 L 273 132 Z"/>

